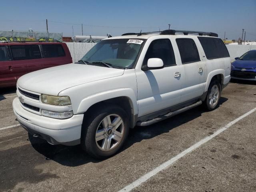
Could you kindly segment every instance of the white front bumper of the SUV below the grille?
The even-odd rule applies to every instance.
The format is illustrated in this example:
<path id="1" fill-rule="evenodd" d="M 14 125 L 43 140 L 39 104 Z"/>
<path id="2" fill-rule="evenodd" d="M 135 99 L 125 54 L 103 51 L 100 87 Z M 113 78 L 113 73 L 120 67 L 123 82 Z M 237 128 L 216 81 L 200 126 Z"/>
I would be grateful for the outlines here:
<path id="1" fill-rule="evenodd" d="M 22 108 L 18 98 L 13 100 L 12 107 L 20 124 L 31 134 L 40 136 L 50 144 L 80 143 L 84 114 L 76 114 L 68 119 L 45 117 Z"/>

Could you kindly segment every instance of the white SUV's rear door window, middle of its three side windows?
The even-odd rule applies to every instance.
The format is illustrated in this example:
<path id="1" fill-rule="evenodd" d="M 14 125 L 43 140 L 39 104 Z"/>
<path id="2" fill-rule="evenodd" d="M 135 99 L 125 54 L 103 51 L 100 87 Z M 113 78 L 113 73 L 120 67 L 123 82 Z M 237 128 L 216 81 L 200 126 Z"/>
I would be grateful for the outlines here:
<path id="1" fill-rule="evenodd" d="M 192 39 L 176 39 L 182 64 L 200 61 L 196 43 Z"/>

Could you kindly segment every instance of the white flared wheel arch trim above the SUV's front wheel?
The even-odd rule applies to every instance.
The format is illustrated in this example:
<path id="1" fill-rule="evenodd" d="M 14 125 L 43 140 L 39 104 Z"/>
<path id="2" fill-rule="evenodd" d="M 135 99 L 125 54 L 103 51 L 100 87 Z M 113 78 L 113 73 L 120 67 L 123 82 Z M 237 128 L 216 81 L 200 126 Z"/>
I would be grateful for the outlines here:
<path id="1" fill-rule="evenodd" d="M 130 88 L 120 88 L 114 90 L 108 90 L 104 92 L 100 92 L 91 96 L 84 98 L 80 105 L 78 106 L 77 113 L 84 113 L 90 108 L 90 106 L 112 98 L 116 97 L 127 97 L 130 101 L 130 105 L 132 106 L 132 113 L 138 114 L 138 104 L 134 91 Z"/>

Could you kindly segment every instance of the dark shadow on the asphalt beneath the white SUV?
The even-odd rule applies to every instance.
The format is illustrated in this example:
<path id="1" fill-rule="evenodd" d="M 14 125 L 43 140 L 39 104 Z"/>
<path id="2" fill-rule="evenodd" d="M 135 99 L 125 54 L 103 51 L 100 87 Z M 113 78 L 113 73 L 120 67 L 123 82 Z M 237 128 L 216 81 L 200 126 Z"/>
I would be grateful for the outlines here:
<path id="1" fill-rule="evenodd" d="M 221 97 L 220 98 L 220 105 L 226 102 L 228 99 Z M 175 116 L 175 118 L 169 118 L 162 122 L 153 124 L 147 127 L 135 127 L 134 129 L 130 130 L 130 134 L 126 143 L 124 144 L 123 148 L 120 152 L 130 148 L 134 143 L 141 142 L 144 139 L 154 138 L 160 134 L 169 132 L 173 128 L 176 128 L 182 124 L 190 122 L 195 118 L 201 116 L 202 113 L 207 112 L 202 108 L 202 106 L 196 107 L 194 109 L 188 110 L 180 115 Z M 161 129 L 159 129 L 161 127 Z M 40 138 L 34 138 L 32 135 L 29 134 L 29 140 L 32 144 L 32 147 L 39 152 L 40 154 L 44 155 L 46 160 L 53 160 L 61 165 L 64 166 L 80 166 L 82 164 L 87 164 L 88 162 L 102 162 L 104 160 L 97 160 L 92 158 L 86 152 L 84 152 L 80 145 L 77 146 L 63 146 L 63 145 L 50 145 L 45 140 Z M 120 153 L 119 152 L 119 153 Z M 118 154 L 116 154 L 118 155 Z"/>

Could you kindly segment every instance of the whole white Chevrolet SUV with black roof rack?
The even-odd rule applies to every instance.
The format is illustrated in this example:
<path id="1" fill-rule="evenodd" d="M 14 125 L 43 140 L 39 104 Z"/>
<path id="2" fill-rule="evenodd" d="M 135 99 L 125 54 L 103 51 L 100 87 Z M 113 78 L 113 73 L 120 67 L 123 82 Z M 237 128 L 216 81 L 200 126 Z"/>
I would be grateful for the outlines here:
<path id="1" fill-rule="evenodd" d="M 218 35 L 165 30 L 96 44 L 77 63 L 18 79 L 14 113 L 33 136 L 76 145 L 96 158 L 115 154 L 130 128 L 204 104 L 218 106 L 230 56 Z"/>

